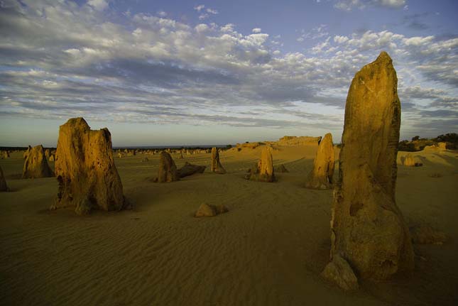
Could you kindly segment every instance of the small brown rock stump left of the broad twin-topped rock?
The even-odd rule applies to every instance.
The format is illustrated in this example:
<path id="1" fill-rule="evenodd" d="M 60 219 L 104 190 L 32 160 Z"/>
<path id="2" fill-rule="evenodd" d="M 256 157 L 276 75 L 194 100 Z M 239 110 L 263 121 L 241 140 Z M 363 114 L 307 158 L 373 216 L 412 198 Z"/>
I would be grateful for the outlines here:
<path id="1" fill-rule="evenodd" d="M 49 168 L 46 160 L 43 146 L 35 146 L 28 150 L 24 168 L 22 170 L 23 178 L 52 177 L 53 170 Z"/>

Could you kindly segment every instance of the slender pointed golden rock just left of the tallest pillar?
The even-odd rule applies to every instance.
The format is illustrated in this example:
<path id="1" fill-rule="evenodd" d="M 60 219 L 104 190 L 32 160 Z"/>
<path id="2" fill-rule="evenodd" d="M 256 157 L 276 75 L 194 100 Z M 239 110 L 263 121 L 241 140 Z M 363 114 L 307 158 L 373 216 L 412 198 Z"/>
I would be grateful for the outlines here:
<path id="1" fill-rule="evenodd" d="M 332 187 L 334 175 L 334 146 L 332 134 L 327 133 L 318 146 L 317 155 L 313 161 L 313 169 L 307 177 L 305 187 L 312 189 L 329 189 Z"/>

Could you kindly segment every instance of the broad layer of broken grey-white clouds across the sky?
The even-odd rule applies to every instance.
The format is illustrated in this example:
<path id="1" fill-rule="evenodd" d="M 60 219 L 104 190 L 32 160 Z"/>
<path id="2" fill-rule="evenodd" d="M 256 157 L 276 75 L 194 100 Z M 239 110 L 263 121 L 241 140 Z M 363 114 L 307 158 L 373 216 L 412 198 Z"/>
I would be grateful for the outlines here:
<path id="1" fill-rule="evenodd" d="M 331 37 L 317 26 L 302 33 L 310 33 L 312 47 L 281 53 L 280 37 L 258 28 L 191 27 L 146 13 L 125 18 L 106 21 L 71 1 L 7 2 L 0 11 L 0 116 L 339 134 L 355 72 L 386 50 L 398 72 L 403 131 L 446 133 L 454 120 L 458 38 L 391 31 Z"/>

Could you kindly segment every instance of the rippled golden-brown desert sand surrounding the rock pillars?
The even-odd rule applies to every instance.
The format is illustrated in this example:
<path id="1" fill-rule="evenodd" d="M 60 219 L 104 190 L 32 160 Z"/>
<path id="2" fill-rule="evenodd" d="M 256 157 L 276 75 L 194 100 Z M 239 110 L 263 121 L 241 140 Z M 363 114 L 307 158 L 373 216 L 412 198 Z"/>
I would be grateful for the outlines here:
<path id="1" fill-rule="evenodd" d="M 456 305 L 458 153 L 413 153 L 423 162 L 415 168 L 398 155 L 396 200 L 408 224 L 430 224 L 447 243 L 415 245 L 410 277 L 346 293 L 319 275 L 332 190 L 304 187 L 316 150 L 274 150 L 274 165 L 290 171 L 276 183 L 243 178 L 261 147 L 221 151 L 226 175 L 209 172 L 209 153 L 174 154 L 178 168 L 207 169 L 164 184 L 152 182 L 158 155 L 115 157 L 134 209 L 89 216 L 49 211 L 55 177 L 21 179 L 22 153 L 13 153 L 0 160 L 11 189 L 0 193 L 0 305 Z M 192 217 L 202 202 L 229 212 Z"/>

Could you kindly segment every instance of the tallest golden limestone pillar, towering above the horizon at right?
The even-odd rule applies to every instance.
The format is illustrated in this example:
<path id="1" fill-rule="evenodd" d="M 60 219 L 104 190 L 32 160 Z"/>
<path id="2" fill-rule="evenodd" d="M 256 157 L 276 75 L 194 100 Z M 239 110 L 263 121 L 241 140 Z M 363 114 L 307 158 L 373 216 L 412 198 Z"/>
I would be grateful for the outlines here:
<path id="1" fill-rule="evenodd" d="M 361 278 L 413 269 L 408 227 L 396 206 L 400 128 L 398 79 L 389 55 L 356 73 L 345 106 L 339 185 L 334 190 L 331 257 Z"/>

